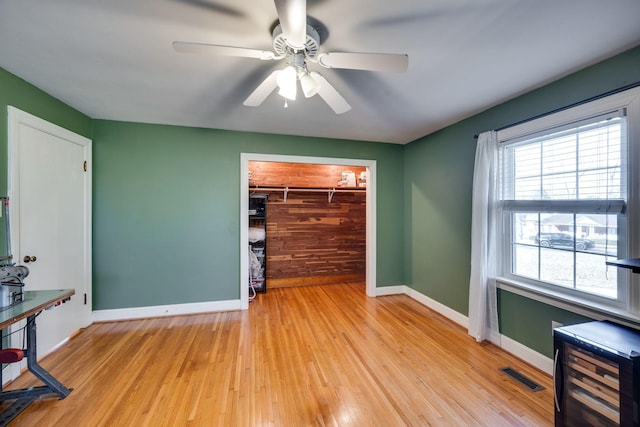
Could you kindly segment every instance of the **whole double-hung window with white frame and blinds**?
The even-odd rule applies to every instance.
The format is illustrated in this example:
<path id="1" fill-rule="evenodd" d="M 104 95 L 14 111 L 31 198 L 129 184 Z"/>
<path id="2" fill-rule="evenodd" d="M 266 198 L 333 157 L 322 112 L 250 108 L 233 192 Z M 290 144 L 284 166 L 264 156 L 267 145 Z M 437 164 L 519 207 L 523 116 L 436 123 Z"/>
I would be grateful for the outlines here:
<path id="1" fill-rule="evenodd" d="M 629 209 L 640 196 L 628 191 L 637 179 L 628 99 L 614 95 L 498 132 L 501 276 L 569 299 L 633 305 L 630 274 L 606 264 L 640 256 L 629 255 L 630 244 L 638 247 Z"/>

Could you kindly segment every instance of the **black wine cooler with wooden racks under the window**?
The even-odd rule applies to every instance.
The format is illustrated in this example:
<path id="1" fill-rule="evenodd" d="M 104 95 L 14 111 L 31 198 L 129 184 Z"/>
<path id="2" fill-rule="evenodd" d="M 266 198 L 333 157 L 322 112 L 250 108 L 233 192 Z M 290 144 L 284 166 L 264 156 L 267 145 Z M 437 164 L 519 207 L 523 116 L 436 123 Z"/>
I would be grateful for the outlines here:
<path id="1" fill-rule="evenodd" d="M 637 426 L 640 333 L 611 322 L 554 329 L 556 426 Z"/>

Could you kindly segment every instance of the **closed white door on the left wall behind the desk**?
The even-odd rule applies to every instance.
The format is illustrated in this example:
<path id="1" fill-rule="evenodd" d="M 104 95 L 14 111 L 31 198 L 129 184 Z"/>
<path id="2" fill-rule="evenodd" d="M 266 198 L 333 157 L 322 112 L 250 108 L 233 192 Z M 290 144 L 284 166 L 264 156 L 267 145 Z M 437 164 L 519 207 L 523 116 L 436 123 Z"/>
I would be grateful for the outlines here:
<path id="1" fill-rule="evenodd" d="M 37 318 L 38 357 L 91 323 L 90 158 L 87 138 L 10 107 L 14 262 L 29 268 L 25 291 L 76 292 Z"/>

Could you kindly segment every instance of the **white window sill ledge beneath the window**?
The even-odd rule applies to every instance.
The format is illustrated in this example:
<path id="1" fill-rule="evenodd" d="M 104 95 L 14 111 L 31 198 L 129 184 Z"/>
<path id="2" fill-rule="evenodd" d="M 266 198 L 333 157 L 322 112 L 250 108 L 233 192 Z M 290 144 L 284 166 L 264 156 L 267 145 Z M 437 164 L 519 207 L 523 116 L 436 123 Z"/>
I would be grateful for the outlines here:
<path id="1" fill-rule="evenodd" d="M 590 317 L 595 320 L 611 320 L 635 329 L 640 329 L 640 316 L 623 308 L 605 306 L 597 302 L 568 297 L 561 292 L 553 292 L 547 289 L 517 282 L 503 277 L 496 279 L 498 289 L 502 289 L 534 301 L 558 307 L 572 313 Z"/>

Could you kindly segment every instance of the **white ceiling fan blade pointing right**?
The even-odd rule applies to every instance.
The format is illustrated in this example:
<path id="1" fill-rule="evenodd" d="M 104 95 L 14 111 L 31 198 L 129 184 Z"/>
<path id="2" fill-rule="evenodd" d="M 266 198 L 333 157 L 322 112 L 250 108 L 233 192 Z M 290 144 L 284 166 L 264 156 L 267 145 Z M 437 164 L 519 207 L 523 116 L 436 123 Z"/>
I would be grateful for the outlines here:
<path id="1" fill-rule="evenodd" d="M 409 55 L 398 53 L 330 52 L 318 55 L 318 64 L 326 68 L 402 73 L 409 66 Z"/>

